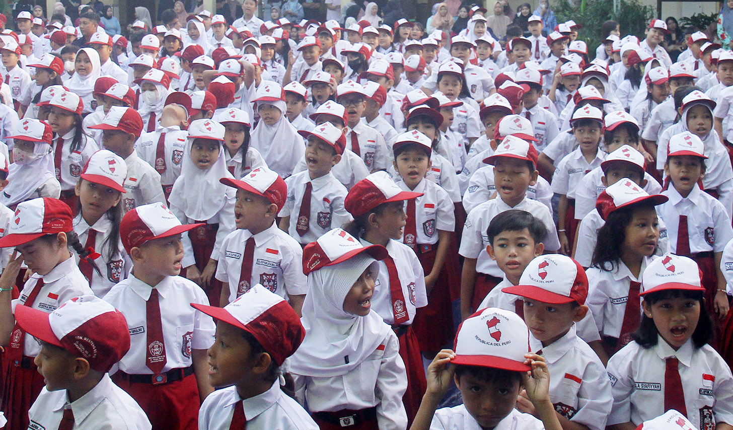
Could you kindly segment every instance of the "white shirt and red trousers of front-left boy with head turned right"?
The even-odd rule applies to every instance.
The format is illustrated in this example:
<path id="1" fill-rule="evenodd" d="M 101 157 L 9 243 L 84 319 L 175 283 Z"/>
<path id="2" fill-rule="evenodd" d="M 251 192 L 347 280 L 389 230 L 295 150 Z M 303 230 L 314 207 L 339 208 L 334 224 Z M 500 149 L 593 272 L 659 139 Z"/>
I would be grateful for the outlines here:
<path id="1" fill-rule="evenodd" d="M 155 330 L 147 322 L 147 302 L 155 296 L 162 338 L 150 338 Z M 117 283 L 104 300 L 122 312 L 130 329 L 130 350 L 112 368 L 112 380 L 133 396 L 155 429 L 195 428 L 200 405 L 192 355 L 214 343 L 216 326 L 191 303 L 208 305 L 206 294 L 180 276 L 166 276 L 151 287 L 133 274 Z M 148 351 L 152 358 L 165 357 L 160 374 L 147 366 Z M 160 366 L 159 361 L 156 364 Z"/>

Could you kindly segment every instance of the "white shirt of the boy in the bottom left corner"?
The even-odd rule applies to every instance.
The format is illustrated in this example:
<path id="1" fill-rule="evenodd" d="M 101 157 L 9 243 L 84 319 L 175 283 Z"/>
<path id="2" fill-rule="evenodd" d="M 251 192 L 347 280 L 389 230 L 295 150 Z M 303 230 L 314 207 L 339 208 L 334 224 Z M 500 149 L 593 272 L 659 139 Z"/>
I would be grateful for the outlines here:
<path id="1" fill-rule="evenodd" d="M 125 390 L 104 374 L 84 396 L 69 401 L 66 390 L 44 387 L 28 411 L 29 429 L 58 429 L 64 410 L 74 414 L 75 430 L 150 430 L 142 408 Z"/>

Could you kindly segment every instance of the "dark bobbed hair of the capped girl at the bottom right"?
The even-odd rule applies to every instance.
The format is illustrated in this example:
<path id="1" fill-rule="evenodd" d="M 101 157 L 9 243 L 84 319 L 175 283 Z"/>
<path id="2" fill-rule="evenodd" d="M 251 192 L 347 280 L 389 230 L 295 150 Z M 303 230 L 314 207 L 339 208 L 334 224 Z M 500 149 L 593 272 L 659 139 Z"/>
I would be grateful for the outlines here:
<path id="1" fill-rule="evenodd" d="M 692 342 L 696 348 L 701 348 L 715 338 L 715 329 L 712 327 L 712 319 L 710 319 L 710 314 L 707 312 L 707 306 L 705 306 L 703 292 L 684 289 L 665 289 L 658 292 L 644 294 L 644 303 L 647 303 L 649 306 L 654 305 L 661 300 L 668 299 L 697 300 L 700 304 L 700 318 L 697 321 L 695 331 L 692 333 Z M 651 348 L 659 341 L 658 334 L 659 330 L 657 330 L 657 326 L 654 324 L 654 319 L 649 318 L 649 316 L 644 313 L 641 316 L 641 322 L 639 323 L 638 329 L 636 329 L 636 332 L 631 335 L 631 338 L 633 338 L 633 340 L 642 348 Z"/>

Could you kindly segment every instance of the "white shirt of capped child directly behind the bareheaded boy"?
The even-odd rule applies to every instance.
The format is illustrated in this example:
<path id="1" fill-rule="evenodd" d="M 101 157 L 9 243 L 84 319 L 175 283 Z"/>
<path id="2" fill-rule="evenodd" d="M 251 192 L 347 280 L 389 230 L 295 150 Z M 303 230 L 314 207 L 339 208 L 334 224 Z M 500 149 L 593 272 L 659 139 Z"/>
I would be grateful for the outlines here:
<path id="1" fill-rule="evenodd" d="M 542 240 L 545 249 L 548 251 L 560 249 L 560 240 L 557 237 L 552 212 L 544 204 L 527 199 L 526 196 L 515 207 L 510 207 L 501 198 L 491 199 L 474 207 L 474 210 L 471 210 L 471 213 L 466 217 L 463 226 L 463 237 L 458 250 L 458 253 L 465 258 L 476 259 L 476 272 L 496 276 L 497 278 L 504 276 L 496 262 L 486 252 L 486 245 L 490 245 L 486 231 L 489 228 L 489 223 L 496 215 L 512 209 L 524 210 L 542 221 L 548 228 L 548 234 Z"/>

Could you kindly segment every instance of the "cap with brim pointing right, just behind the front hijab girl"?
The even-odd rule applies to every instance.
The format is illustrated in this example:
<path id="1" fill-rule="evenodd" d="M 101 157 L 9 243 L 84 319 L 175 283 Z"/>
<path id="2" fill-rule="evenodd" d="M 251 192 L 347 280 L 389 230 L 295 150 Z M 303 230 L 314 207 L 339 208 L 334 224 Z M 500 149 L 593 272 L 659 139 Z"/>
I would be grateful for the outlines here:
<path id="1" fill-rule="evenodd" d="M 344 199 L 345 209 L 354 217 L 364 215 L 383 203 L 417 199 L 422 193 L 402 191 L 386 171 L 375 171 L 356 182 Z"/>

